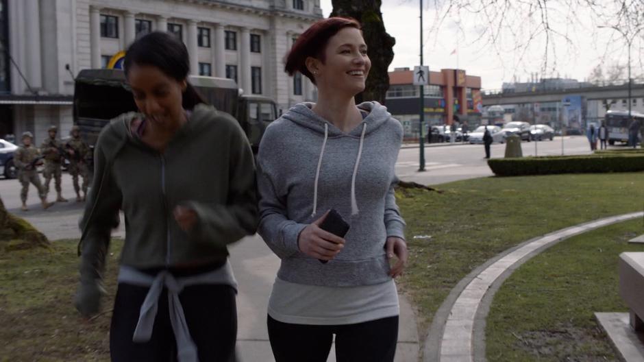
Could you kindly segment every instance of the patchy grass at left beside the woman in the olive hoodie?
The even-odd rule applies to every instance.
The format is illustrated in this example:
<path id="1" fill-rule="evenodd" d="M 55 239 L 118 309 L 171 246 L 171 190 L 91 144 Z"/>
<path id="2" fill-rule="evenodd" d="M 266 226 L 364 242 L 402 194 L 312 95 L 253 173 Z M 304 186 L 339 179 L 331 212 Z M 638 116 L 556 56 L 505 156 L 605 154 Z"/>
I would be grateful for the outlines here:
<path id="1" fill-rule="evenodd" d="M 62 240 L 49 250 L 0 254 L 0 361 L 110 360 L 110 309 L 123 243 L 114 241 L 108 256 L 106 313 L 89 322 L 73 306 L 76 245 L 75 240 Z"/>

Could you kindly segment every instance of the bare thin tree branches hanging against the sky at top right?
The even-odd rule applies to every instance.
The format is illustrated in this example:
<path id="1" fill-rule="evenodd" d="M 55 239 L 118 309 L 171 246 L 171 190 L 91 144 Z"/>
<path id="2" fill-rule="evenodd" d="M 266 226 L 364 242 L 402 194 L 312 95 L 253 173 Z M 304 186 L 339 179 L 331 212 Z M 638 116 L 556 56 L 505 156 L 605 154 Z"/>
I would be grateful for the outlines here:
<path id="1" fill-rule="evenodd" d="M 493 51 L 504 69 L 508 68 L 508 61 L 514 62 L 512 69 L 515 70 L 535 56 L 541 58 L 542 77 L 556 75 L 561 59 L 584 56 L 576 47 L 574 34 L 591 34 L 597 38 L 599 32 L 609 31 L 599 27 L 609 27 L 615 29 L 611 42 L 623 43 L 619 32 L 633 36 L 644 29 L 643 0 L 428 1 L 434 10 L 430 35 L 438 34 L 436 30 L 445 25 L 456 25 L 464 33 L 478 34 L 469 45 Z M 644 35 L 644 31 L 639 35 Z M 562 49 L 557 44 L 565 45 L 565 54 L 557 53 Z M 633 50 L 639 54 L 642 64 L 642 49 Z"/>

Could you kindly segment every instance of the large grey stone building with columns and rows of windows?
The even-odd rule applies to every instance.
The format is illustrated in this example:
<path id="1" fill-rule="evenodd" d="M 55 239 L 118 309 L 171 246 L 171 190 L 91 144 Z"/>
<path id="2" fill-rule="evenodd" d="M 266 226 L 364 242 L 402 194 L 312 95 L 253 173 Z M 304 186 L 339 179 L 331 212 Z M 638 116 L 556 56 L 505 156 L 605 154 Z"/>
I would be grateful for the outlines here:
<path id="1" fill-rule="evenodd" d="M 314 99 L 283 58 L 322 17 L 319 0 L 0 0 L 0 137 L 29 130 L 39 143 L 51 124 L 66 136 L 75 75 L 156 30 L 184 41 L 195 75 L 230 77 L 282 109 Z"/>

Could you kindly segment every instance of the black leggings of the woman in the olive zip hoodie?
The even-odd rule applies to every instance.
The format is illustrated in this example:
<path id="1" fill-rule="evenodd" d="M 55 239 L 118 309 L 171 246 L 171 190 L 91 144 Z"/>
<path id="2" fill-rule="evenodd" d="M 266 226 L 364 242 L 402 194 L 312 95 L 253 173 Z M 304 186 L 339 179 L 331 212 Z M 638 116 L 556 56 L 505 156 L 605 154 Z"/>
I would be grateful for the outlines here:
<path id="1" fill-rule="evenodd" d="M 147 287 L 119 284 L 110 327 L 110 355 L 114 362 L 177 361 L 177 344 L 170 323 L 167 289 L 158 304 L 152 337 L 134 343 L 132 335 Z M 197 345 L 199 361 L 234 361 L 237 338 L 235 291 L 230 285 L 191 285 L 179 294 L 190 337 Z"/>

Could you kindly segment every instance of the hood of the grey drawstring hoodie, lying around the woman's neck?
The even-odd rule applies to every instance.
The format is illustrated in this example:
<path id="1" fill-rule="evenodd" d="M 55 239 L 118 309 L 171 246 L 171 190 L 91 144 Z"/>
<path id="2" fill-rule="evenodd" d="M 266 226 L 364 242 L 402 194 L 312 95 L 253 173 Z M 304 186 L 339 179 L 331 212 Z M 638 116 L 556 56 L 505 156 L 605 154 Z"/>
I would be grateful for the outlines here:
<path id="1" fill-rule="evenodd" d="M 282 118 L 288 119 L 301 127 L 309 128 L 310 130 L 314 130 L 320 134 L 324 134 L 325 125 L 327 125 L 327 132 L 330 137 L 347 135 L 347 133 L 342 132 L 335 125 L 313 112 L 313 106 L 315 106 L 315 104 L 312 102 L 297 104 L 286 111 L 286 113 L 282 114 Z M 391 118 L 391 114 L 387 111 L 387 108 L 377 101 L 362 102 L 358 105 L 358 108 L 369 113 L 369 115 L 367 115 L 367 117 L 362 121 L 363 124 L 367 124 L 367 127 L 364 129 L 365 135 L 369 135 L 371 132 L 374 132 Z M 361 134 L 362 127 L 356 127 L 348 133 L 349 136 L 355 137 L 360 137 Z"/>

